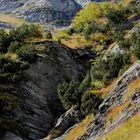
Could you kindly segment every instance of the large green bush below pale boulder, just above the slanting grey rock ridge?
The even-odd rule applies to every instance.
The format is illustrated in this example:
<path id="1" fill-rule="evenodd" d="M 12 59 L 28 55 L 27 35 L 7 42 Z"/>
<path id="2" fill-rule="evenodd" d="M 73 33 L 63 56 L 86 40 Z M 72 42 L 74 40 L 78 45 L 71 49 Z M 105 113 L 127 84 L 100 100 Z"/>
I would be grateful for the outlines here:
<path id="1" fill-rule="evenodd" d="M 128 53 L 112 54 L 106 56 L 106 58 L 97 59 L 91 69 L 91 79 L 94 81 L 102 81 L 105 85 L 110 80 L 117 77 L 119 71 L 130 64 L 130 55 Z"/>

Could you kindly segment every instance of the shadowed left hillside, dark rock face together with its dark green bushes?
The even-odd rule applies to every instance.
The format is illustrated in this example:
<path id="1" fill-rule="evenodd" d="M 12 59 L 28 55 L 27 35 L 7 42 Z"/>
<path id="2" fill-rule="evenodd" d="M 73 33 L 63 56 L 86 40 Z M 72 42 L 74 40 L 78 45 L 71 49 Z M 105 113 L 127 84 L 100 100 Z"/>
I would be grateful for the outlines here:
<path id="1" fill-rule="evenodd" d="M 43 39 L 32 24 L 0 30 L 0 41 L 0 138 L 40 139 L 64 112 L 57 85 L 81 81 L 95 54 Z"/>

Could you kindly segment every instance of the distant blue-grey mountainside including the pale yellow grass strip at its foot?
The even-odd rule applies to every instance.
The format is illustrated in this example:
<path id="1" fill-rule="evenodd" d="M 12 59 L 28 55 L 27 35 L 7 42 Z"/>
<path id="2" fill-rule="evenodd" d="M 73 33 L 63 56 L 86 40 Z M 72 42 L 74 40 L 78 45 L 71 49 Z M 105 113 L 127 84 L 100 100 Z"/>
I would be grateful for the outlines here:
<path id="1" fill-rule="evenodd" d="M 51 29 L 68 26 L 89 2 L 91 0 L 0 0 L 0 28 L 15 28 L 20 21 L 41 23 Z"/>

